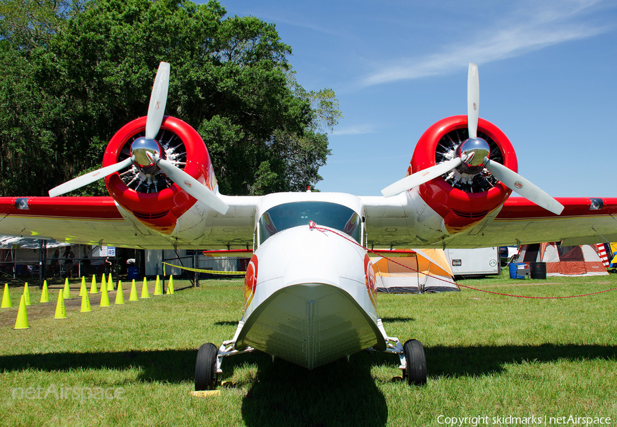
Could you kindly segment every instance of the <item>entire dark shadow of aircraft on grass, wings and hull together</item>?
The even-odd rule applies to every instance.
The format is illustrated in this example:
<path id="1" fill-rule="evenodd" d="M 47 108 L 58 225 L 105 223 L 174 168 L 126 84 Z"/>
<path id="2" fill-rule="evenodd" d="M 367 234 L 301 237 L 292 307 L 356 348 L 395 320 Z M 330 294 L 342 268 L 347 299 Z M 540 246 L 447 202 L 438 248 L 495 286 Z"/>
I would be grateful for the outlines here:
<path id="1" fill-rule="evenodd" d="M 425 347 L 428 377 L 483 376 L 500 373 L 505 365 L 524 361 L 617 360 L 617 346 L 542 344 L 479 345 L 476 347 Z M 52 353 L 0 356 L 3 372 L 39 369 L 130 369 L 141 368 L 143 382 L 179 384 L 193 379 L 196 350 L 117 351 L 96 353 Z M 248 391 L 242 402 L 242 415 L 249 426 L 256 425 L 374 425 L 387 424 L 388 408 L 372 367 L 392 367 L 396 356 L 360 352 L 347 360 L 337 360 L 309 371 L 285 360 L 271 360 L 261 352 L 228 358 L 223 376 L 232 380 L 223 387 Z M 234 378 L 234 371 L 256 365 L 256 378 Z M 396 378 L 392 378 L 396 380 Z M 388 380 L 389 381 L 389 380 Z M 400 386 L 407 387 L 402 382 Z"/>

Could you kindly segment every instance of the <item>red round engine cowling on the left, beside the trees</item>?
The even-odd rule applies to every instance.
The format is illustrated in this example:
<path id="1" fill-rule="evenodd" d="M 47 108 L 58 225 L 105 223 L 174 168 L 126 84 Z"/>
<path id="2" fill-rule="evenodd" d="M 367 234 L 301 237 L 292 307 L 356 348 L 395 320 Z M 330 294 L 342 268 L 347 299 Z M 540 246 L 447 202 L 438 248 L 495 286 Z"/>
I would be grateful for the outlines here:
<path id="1" fill-rule="evenodd" d="M 145 125 L 146 117 L 140 117 L 123 126 L 109 141 L 103 166 L 129 157 L 131 143 L 145 135 Z M 215 189 L 217 181 L 208 149 L 195 129 L 180 119 L 165 116 L 156 139 L 165 149 L 167 159 L 178 161 L 179 165 L 184 163 L 184 172 Z M 156 167 L 143 171 L 133 165 L 106 177 L 105 183 L 121 207 L 147 227 L 165 234 L 173 231 L 178 218 L 196 201 Z"/>

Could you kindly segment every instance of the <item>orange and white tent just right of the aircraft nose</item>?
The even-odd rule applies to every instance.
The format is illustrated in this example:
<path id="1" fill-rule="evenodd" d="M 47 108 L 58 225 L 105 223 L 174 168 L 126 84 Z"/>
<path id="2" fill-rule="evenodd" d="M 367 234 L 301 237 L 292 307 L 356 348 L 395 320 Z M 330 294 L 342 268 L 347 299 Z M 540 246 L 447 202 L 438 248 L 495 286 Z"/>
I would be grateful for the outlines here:
<path id="1" fill-rule="evenodd" d="M 459 290 L 442 249 L 412 249 L 404 257 L 372 259 L 377 292 Z"/>

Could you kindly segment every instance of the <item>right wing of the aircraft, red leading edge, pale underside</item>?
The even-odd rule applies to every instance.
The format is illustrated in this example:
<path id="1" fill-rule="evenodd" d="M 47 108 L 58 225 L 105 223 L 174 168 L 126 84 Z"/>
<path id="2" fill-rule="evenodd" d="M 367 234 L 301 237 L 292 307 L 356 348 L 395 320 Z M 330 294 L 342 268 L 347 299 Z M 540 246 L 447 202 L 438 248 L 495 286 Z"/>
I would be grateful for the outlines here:
<path id="1" fill-rule="evenodd" d="M 564 205 L 557 216 L 526 198 L 511 197 L 458 233 L 444 232 L 443 218 L 422 203 L 414 204 L 404 193 L 361 199 L 369 248 L 479 248 L 540 242 L 571 246 L 617 240 L 617 198 L 557 198 Z"/>

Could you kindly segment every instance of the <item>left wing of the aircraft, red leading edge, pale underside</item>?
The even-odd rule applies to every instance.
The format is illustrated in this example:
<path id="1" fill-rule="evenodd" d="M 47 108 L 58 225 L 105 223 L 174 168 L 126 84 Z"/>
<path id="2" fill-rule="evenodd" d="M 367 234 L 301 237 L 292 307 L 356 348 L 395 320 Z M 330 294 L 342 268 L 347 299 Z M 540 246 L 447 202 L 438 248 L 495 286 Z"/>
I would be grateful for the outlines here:
<path id="1" fill-rule="evenodd" d="M 226 200 L 225 215 L 195 203 L 173 233 L 158 233 L 112 197 L 0 197 L 0 235 L 137 249 L 251 247 L 256 198 Z"/>

